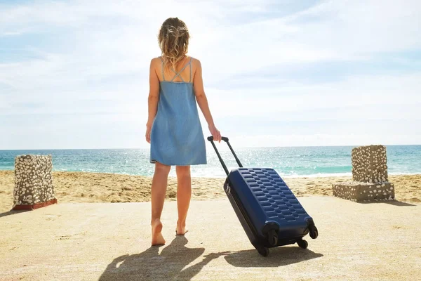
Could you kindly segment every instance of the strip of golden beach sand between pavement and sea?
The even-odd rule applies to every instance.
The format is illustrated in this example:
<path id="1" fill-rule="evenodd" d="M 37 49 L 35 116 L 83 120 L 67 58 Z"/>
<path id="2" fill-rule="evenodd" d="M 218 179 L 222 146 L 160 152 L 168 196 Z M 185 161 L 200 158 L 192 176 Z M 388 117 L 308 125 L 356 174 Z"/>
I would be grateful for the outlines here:
<path id="1" fill-rule="evenodd" d="M 332 195 L 332 183 L 350 181 L 351 177 L 285 178 L 298 197 Z M 421 174 L 389 176 L 394 183 L 396 200 L 409 203 L 421 202 Z M 58 202 L 147 202 L 150 197 L 152 177 L 121 174 L 53 172 L 53 185 Z M 220 200 L 224 178 L 192 178 L 192 200 Z M 13 205 L 14 172 L 0 171 L 0 211 Z M 168 178 L 166 200 L 175 200 L 176 178 Z"/>

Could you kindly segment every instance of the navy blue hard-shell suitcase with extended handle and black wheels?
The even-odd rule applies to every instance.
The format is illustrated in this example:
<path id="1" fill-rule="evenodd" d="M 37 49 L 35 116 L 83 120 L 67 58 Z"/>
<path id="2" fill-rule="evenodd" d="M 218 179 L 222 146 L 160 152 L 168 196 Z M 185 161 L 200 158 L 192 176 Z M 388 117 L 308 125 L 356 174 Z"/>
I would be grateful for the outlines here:
<path id="1" fill-rule="evenodd" d="M 274 169 L 243 168 L 228 138 L 222 137 L 240 166 L 229 172 L 213 137 L 208 137 L 208 141 L 227 174 L 224 190 L 229 202 L 259 254 L 267 256 L 269 248 L 295 243 L 306 249 L 308 243 L 303 237 L 309 234 L 312 239 L 317 238 L 319 233 L 313 218 Z"/>

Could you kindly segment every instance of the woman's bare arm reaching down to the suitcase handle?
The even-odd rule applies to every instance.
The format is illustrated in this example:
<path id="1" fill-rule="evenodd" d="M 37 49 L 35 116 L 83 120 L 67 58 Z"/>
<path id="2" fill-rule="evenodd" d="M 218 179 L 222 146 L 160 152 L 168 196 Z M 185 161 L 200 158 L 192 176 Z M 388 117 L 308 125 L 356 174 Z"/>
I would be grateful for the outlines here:
<path id="1" fill-rule="evenodd" d="M 197 104 L 200 107 L 203 116 L 208 123 L 208 128 L 210 133 L 213 136 L 214 141 L 221 141 L 221 133 L 216 129 L 215 124 L 213 122 L 212 115 L 210 114 L 210 109 L 208 105 L 208 98 L 206 98 L 205 90 L 203 89 L 203 78 L 202 78 L 202 69 L 200 60 L 194 60 L 196 65 L 196 71 L 194 72 L 193 77 L 193 88 L 194 88 L 194 95 L 196 96 Z"/>

